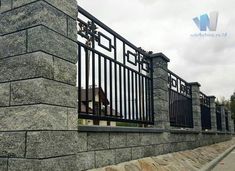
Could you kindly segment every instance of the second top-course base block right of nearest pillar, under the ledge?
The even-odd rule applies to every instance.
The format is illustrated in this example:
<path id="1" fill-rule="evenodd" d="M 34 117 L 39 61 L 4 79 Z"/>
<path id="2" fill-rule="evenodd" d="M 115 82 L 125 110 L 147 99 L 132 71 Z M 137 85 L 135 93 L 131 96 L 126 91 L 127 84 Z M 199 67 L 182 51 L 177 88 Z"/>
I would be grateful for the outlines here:
<path id="1" fill-rule="evenodd" d="M 102 150 L 109 148 L 108 133 L 88 133 L 88 150 Z"/>

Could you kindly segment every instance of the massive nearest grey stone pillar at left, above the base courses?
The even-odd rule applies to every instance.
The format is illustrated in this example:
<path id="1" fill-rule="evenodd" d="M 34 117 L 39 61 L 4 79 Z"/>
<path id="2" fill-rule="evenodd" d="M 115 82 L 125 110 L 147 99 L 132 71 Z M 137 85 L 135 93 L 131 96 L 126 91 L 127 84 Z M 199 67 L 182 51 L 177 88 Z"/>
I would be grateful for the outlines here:
<path id="1" fill-rule="evenodd" d="M 76 0 L 4 0 L 0 13 L 0 131 L 76 129 Z"/>

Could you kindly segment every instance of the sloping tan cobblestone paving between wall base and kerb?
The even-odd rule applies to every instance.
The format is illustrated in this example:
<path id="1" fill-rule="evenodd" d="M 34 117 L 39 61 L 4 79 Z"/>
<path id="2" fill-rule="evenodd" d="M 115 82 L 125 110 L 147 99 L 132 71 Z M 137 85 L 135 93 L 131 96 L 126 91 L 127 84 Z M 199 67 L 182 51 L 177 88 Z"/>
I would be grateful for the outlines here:
<path id="1" fill-rule="evenodd" d="M 235 144 L 235 139 L 193 150 L 147 157 L 90 171 L 195 171 Z"/>

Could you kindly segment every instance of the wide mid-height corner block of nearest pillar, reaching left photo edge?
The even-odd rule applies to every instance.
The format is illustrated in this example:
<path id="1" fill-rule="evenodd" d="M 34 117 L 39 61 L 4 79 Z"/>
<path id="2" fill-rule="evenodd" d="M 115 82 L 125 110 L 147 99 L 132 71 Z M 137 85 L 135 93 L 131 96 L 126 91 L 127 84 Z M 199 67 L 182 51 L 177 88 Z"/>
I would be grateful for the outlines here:
<path id="1" fill-rule="evenodd" d="M 0 60 L 0 81 L 35 77 L 53 78 L 53 57 L 43 52 L 29 53 Z"/>

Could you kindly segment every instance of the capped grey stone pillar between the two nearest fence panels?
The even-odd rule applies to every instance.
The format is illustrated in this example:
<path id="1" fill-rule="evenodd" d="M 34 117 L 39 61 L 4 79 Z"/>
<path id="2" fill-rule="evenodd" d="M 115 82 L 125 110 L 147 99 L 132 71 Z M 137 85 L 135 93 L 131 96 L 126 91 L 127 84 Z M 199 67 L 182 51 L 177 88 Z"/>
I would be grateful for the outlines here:
<path id="1" fill-rule="evenodd" d="M 154 96 L 154 127 L 170 128 L 168 62 L 162 53 L 152 55 L 153 62 L 153 96 Z"/>

